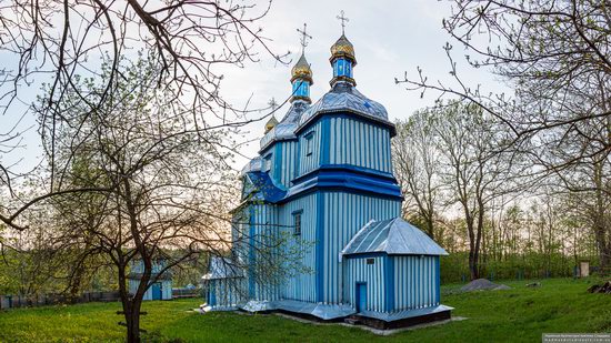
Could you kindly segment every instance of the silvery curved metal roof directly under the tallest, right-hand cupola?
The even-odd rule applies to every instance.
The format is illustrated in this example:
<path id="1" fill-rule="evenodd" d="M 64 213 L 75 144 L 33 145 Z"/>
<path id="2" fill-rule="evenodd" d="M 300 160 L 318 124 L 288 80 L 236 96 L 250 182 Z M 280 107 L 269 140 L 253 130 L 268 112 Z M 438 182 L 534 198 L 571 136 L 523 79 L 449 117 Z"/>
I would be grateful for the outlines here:
<path id="1" fill-rule="evenodd" d="M 384 107 L 361 94 L 352 84 L 338 82 L 331 91 L 312 104 L 299 121 L 299 127 L 304 125 L 319 113 L 348 111 L 367 118 L 388 121 L 388 112 Z"/>

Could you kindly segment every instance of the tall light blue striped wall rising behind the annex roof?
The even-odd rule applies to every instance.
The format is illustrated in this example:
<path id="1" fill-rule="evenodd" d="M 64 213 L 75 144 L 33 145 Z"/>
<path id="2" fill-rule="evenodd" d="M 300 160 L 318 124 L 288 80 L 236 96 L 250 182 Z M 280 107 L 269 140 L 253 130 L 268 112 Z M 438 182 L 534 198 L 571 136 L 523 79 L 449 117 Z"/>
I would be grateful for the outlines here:
<path id="1" fill-rule="evenodd" d="M 324 274 L 319 282 L 325 303 L 341 303 L 342 275 L 339 253 L 352 236 L 370 220 L 385 220 L 400 215 L 401 202 L 378 196 L 347 192 L 324 192 L 322 238 L 317 245 Z"/>

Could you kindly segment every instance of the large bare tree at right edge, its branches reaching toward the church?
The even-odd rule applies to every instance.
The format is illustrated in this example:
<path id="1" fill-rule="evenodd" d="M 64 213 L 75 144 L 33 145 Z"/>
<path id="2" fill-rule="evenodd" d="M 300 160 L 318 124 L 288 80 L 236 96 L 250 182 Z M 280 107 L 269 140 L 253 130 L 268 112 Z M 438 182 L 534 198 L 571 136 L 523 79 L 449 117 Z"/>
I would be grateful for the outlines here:
<path id="1" fill-rule="evenodd" d="M 547 183 L 588 193 L 589 222 L 602 265 L 609 264 L 611 228 L 603 199 L 611 151 L 611 2 L 455 0 L 443 28 L 461 47 L 465 64 L 488 69 L 513 89 L 512 97 L 468 84 L 453 46 L 444 49 L 452 81 L 429 80 L 422 69 L 398 83 L 437 91 L 481 107 L 512 133 L 512 149 L 530 153 Z M 584 171 L 588 170 L 587 176 Z M 578 178 L 577 175 L 581 175 Z M 542 178 L 543 179 L 543 178 Z M 580 179 L 577 182 L 577 179 Z M 559 181 L 560 180 L 560 181 Z M 598 194 L 597 194 L 598 192 Z M 595 203 L 595 205 L 594 205 Z M 597 219 L 598 218 L 598 219 Z"/>

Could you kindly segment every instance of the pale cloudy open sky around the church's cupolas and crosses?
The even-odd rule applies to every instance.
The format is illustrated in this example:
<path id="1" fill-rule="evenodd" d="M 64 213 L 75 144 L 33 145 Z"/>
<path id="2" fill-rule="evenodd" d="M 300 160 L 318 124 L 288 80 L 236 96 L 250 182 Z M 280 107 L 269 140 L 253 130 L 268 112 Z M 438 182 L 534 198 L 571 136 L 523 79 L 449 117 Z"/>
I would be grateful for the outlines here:
<path id="1" fill-rule="evenodd" d="M 264 1 L 261 1 L 264 6 Z M 358 65 L 354 79 L 358 89 L 365 97 L 383 104 L 390 120 L 407 119 L 418 109 L 433 105 L 439 94 L 428 92 L 423 98 L 420 91 L 407 91 L 404 85 L 395 84 L 394 79 L 402 79 L 407 72 L 410 78 L 418 78 L 417 68 L 422 68 L 429 80 L 441 80 L 451 84 L 450 64 L 443 46 L 452 42 L 442 29 L 442 19 L 451 13 L 451 2 L 433 0 L 274 0 L 270 12 L 259 22 L 263 36 L 269 39 L 269 47 L 278 52 L 291 51 L 291 62 L 282 64 L 269 54 L 261 54 L 256 63 L 244 68 L 227 68 L 221 85 L 221 95 L 234 107 L 242 108 L 250 101 L 251 108 L 264 108 L 270 99 L 282 102 L 291 94 L 290 69 L 300 53 L 300 34 L 298 28 L 308 24 L 312 36 L 306 48 L 306 57 L 313 71 L 314 84 L 311 88 L 312 101 L 320 99 L 330 90 L 329 81 L 332 69 L 329 63 L 330 47 L 341 36 L 340 11 L 349 19 L 345 36 L 355 50 Z M 484 85 L 485 91 L 502 91 L 502 85 L 484 69 L 469 69 L 463 59 L 462 47 L 454 48 L 458 69 L 469 84 Z M 36 90 L 24 90 L 32 97 Z M 278 120 L 288 111 L 289 104 L 278 111 Z M 6 129 L 19 118 L 19 111 L 0 117 L 0 129 Z M 261 114 L 253 114 L 260 117 Z M 241 169 L 259 150 L 267 120 L 251 123 L 243 128 L 246 144 L 236 160 L 236 169 Z M 0 155 L 0 162 L 20 161 L 19 170 L 29 170 L 40 161 L 42 154 L 40 139 L 36 130 L 36 119 L 24 118 L 19 124 L 21 131 L 31 128 L 23 134 L 22 148 L 11 155 Z M 2 161 L 3 160 L 3 161 Z"/>

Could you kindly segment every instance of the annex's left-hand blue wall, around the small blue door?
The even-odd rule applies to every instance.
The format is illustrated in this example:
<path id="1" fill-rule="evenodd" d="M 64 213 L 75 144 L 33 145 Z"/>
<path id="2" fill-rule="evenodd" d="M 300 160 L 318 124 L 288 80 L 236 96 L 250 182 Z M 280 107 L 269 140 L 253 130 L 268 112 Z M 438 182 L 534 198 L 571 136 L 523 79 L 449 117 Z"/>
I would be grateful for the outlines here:
<path id="1" fill-rule="evenodd" d="M 369 263 L 368 263 L 368 260 Z M 373 263 L 371 263 L 371 261 Z M 344 280 L 343 287 L 344 302 L 355 307 L 357 303 L 357 282 L 364 282 L 367 289 L 367 310 L 383 312 L 385 309 L 384 271 L 387 264 L 385 256 L 364 256 L 344 259 Z"/>

